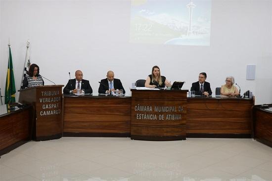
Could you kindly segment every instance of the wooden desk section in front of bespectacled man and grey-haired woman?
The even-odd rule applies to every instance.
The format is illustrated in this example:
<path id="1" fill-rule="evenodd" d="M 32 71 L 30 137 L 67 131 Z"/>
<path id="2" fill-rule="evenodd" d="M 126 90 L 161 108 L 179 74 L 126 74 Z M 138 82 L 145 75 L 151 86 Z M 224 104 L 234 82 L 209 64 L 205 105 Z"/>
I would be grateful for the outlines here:
<path id="1" fill-rule="evenodd" d="M 187 98 L 187 137 L 245 137 L 252 134 L 254 98 Z"/>

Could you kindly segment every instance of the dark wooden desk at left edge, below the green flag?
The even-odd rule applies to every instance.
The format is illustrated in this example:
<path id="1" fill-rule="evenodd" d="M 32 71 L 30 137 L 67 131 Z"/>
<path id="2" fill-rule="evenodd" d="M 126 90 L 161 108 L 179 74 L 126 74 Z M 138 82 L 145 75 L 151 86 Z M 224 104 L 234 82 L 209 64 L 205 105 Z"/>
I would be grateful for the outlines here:
<path id="1" fill-rule="evenodd" d="M 6 105 L 0 105 L 0 156 L 28 142 L 32 106 L 8 111 Z"/>

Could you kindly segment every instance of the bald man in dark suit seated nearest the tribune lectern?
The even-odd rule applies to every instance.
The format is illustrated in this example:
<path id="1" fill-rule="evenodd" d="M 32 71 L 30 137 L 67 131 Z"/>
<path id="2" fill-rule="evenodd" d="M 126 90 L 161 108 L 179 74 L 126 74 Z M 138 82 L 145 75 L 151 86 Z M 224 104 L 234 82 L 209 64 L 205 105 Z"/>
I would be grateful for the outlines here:
<path id="1" fill-rule="evenodd" d="M 91 85 L 89 81 L 83 79 L 83 74 L 81 70 L 76 71 L 76 79 L 70 79 L 63 89 L 63 93 L 77 93 L 77 89 L 80 89 L 80 93 L 82 93 L 84 89 L 84 93 L 92 93 Z"/>

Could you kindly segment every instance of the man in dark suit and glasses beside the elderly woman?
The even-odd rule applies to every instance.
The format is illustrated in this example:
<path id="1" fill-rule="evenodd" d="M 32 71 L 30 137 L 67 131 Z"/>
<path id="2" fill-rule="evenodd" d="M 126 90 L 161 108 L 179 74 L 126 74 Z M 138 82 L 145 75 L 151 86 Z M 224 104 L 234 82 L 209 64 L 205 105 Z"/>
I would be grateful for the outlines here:
<path id="1" fill-rule="evenodd" d="M 212 95 L 212 90 L 210 87 L 210 83 L 205 82 L 207 78 L 207 74 L 205 72 L 201 72 L 198 76 L 198 81 L 192 83 L 191 91 L 194 90 L 196 95 Z"/>

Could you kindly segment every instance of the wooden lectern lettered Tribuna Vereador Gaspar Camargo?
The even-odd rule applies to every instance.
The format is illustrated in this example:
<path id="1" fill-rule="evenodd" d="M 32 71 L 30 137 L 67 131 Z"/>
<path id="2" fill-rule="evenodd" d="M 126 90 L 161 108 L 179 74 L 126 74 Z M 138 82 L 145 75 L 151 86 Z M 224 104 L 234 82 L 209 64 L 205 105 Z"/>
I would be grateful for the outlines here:
<path id="1" fill-rule="evenodd" d="M 32 139 L 40 141 L 62 137 L 62 87 L 63 85 L 54 85 L 18 90 L 19 102 L 31 104 L 34 108 Z"/>

